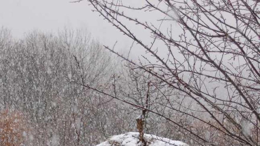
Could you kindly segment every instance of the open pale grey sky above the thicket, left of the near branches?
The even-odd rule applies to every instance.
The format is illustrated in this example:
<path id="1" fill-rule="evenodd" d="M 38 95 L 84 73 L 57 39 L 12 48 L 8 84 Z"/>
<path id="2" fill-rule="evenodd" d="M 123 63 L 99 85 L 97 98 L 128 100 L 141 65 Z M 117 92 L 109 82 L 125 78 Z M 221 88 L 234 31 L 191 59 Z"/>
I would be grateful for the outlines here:
<path id="1" fill-rule="evenodd" d="M 131 45 L 114 27 L 105 22 L 86 1 L 69 3 L 69 0 L 0 0 L 0 26 L 11 29 L 14 37 L 22 37 L 34 29 L 57 32 L 65 26 L 87 29 L 92 37 L 105 45 L 118 40 L 121 47 Z M 111 37 L 113 36 L 113 37 Z"/>

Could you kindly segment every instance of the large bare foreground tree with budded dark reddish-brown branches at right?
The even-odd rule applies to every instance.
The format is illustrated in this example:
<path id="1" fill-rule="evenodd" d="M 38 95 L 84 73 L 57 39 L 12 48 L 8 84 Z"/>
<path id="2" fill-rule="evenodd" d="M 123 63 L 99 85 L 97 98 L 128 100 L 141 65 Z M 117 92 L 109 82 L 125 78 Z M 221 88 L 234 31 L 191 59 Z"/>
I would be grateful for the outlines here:
<path id="1" fill-rule="evenodd" d="M 151 86 L 179 93 L 164 94 L 167 102 L 150 106 L 165 107 L 190 121 L 166 116 L 165 110 L 147 109 L 87 83 L 79 84 L 163 117 L 192 145 L 259 145 L 259 1 L 88 2 L 93 11 L 146 51 L 146 63 L 104 47 L 131 63 L 133 70 L 142 69 L 159 80 L 151 81 Z M 160 16 L 159 23 L 141 14 Z M 149 35 L 140 36 L 132 22 Z"/>

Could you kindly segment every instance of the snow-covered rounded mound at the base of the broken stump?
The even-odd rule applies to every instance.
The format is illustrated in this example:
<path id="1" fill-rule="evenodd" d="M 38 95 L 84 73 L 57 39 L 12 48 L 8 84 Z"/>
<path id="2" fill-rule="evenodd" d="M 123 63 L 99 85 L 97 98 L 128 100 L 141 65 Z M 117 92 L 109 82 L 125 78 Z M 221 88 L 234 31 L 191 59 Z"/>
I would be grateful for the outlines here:
<path id="1" fill-rule="evenodd" d="M 147 146 L 188 146 L 181 141 L 157 137 L 151 134 L 144 134 L 144 140 L 147 142 Z M 96 146 L 141 146 L 141 144 L 138 132 L 128 132 L 112 136 L 107 141 Z"/>

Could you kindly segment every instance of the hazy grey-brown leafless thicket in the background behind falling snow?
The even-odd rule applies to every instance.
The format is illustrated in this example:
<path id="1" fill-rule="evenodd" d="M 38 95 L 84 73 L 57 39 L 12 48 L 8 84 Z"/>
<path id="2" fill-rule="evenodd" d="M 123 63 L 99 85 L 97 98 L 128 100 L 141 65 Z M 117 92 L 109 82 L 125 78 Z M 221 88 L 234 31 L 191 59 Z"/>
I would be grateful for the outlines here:
<path id="1" fill-rule="evenodd" d="M 150 80 L 156 83 L 156 78 L 117 60 L 82 30 L 64 29 L 57 34 L 34 31 L 22 39 L 14 39 L 2 27 L 1 142 L 25 146 L 90 146 L 111 135 L 136 131 L 134 119 L 140 114 L 138 108 L 71 80 L 90 83 L 138 105 L 145 104 L 147 94 L 151 103 L 169 102 L 162 97 L 176 94 L 165 87 L 147 86 Z M 148 108 L 173 116 L 165 107 Z M 185 119 L 178 113 L 175 116 Z M 148 111 L 146 119 L 146 133 L 185 141 L 185 135 L 169 127 L 167 121 L 162 122 L 163 117 Z M 3 128 L 6 125 L 15 129 L 15 133 Z"/>

